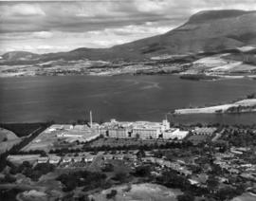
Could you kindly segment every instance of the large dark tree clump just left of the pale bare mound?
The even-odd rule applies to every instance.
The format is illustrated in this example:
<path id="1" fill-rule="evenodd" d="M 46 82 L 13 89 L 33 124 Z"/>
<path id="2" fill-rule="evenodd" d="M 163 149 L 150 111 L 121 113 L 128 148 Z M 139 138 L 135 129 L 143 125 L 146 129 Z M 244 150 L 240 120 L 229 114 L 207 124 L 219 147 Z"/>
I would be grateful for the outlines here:
<path id="1" fill-rule="evenodd" d="M 88 171 L 61 174 L 57 180 L 63 183 L 64 192 L 70 192 L 77 187 L 83 187 L 83 191 L 87 192 L 96 188 L 106 188 L 109 186 L 106 181 L 106 174 Z"/>

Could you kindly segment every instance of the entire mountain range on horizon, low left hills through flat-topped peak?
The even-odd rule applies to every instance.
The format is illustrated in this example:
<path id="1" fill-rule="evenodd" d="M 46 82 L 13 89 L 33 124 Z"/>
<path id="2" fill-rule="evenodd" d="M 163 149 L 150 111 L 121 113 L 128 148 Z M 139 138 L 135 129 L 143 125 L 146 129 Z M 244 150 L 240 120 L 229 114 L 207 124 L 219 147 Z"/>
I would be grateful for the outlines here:
<path id="1" fill-rule="evenodd" d="M 2 56 L 7 62 L 47 62 L 71 60 L 138 61 L 164 54 L 196 54 L 220 52 L 241 46 L 256 46 L 256 11 L 200 11 L 181 27 L 154 37 L 110 48 L 78 48 L 69 52 L 36 55 L 9 52 Z M 24 62 L 27 61 L 27 62 Z M 2 64 L 4 64 L 2 62 Z"/>

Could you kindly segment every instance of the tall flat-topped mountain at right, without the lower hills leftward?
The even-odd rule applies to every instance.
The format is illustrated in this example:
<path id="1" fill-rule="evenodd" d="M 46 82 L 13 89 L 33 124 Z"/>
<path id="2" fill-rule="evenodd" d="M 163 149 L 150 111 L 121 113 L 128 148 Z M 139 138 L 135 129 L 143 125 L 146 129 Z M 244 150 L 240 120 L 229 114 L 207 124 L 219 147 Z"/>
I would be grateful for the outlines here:
<path id="1" fill-rule="evenodd" d="M 256 46 L 256 11 L 210 10 L 198 12 L 181 27 L 163 35 L 114 46 L 140 55 L 185 54 Z"/>

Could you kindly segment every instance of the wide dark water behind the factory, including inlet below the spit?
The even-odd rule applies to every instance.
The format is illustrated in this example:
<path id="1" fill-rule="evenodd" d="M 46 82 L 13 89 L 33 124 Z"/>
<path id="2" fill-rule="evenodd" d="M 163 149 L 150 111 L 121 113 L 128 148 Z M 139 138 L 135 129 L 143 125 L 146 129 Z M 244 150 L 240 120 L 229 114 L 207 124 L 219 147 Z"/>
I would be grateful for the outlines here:
<path id="1" fill-rule="evenodd" d="M 177 108 L 237 100 L 256 81 L 186 81 L 176 76 L 28 77 L 0 79 L 0 121 L 161 120 Z M 171 119 L 171 117 L 169 117 Z M 175 122 L 256 123 L 256 114 L 187 115 Z"/>

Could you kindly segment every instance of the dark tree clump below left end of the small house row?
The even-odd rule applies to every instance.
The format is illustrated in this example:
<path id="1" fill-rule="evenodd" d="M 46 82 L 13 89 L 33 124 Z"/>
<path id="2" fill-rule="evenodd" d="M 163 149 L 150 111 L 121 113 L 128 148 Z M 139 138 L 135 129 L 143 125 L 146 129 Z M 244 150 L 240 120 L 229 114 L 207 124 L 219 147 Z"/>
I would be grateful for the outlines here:
<path id="1" fill-rule="evenodd" d="M 27 177 L 31 178 L 33 181 L 38 181 L 38 179 L 47 173 L 53 172 L 55 166 L 49 163 L 39 163 L 34 168 L 32 165 L 24 161 L 20 166 L 16 167 L 12 165 L 10 167 L 9 173 L 10 174 L 24 174 Z"/>

